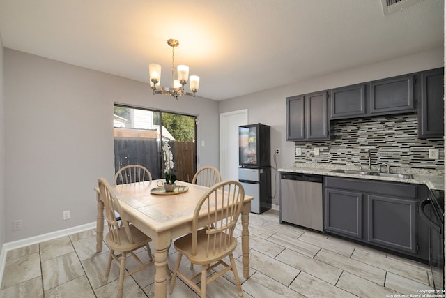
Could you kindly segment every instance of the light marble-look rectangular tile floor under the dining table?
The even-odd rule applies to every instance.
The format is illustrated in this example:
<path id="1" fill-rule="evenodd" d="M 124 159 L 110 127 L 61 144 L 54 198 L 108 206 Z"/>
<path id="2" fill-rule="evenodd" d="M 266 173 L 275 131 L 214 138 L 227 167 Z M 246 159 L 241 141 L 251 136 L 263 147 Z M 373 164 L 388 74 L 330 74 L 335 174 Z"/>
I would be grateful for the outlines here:
<path id="1" fill-rule="evenodd" d="M 107 229 L 106 229 L 107 230 Z M 325 234 L 279 224 L 277 210 L 249 216 L 250 277 L 243 278 L 241 225 L 234 253 L 243 297 L 398 297 L 431 290 L 427 265 Z M 102 281 L 108 248 L 95 252 L 95 230 L 9 251 L 0 297 L 115 297 L 118 267 Z M 174 268 L 176 251 L 169 251 Z M 148 258 L 144 250 L 140 258 Z M 144 257 L 145 256 L 145 257 Z M 135 265 L 128 259 L 128 268 Z M 187 260 L 183 271 L 191 276 Z M 125 278 L 124 297 L 154 297 L 155 268 Z M 199 297 L 180 279 L 168 297 Z M 231 271 L 208 285 L 208 297 L 238 297 Z M 400 296 L 401 297 L 401 296 Z"/>

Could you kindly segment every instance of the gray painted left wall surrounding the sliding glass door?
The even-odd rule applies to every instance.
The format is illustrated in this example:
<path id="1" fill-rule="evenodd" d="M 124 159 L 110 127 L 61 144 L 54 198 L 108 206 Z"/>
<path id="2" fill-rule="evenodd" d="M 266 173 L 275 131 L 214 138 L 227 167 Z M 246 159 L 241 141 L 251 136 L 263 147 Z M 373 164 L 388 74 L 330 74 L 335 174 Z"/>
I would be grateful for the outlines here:
<path id="1" fill-rule="evenodd" d="M 95 221 L 93 188 L 114 174 L 114 103 L 197 115 L 199 144 L 206 141 L 200 165 L 219 166 L 214 100 L 153 96 L 148 84 L 10 49 L 4 49 L 4 92 L 4 242 Z M 13 232 L 17 219 L 23 228 Z"/>

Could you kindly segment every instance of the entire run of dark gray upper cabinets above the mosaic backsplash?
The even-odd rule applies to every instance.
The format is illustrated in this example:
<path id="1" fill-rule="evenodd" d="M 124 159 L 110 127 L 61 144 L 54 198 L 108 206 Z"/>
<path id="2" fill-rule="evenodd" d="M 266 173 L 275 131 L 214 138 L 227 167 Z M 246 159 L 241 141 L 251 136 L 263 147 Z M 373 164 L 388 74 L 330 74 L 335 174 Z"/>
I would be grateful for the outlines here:
<path id="1" fill-rule="evenodd" d="M 416 112 L 420 138 L 443 137 L 443 76 L 437 68 L 288 97 L 286 140 L 330 140 L 330 120 Z"/>

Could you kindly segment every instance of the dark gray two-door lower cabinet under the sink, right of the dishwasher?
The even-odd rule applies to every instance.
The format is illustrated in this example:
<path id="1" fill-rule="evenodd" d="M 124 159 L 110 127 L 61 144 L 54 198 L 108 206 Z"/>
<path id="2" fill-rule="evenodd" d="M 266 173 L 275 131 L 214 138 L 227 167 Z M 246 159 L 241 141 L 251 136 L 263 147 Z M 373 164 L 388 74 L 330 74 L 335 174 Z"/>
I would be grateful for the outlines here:
<path id="1" fill-rule="evenodd" d="M 428 259 L 429 228 L 417 208 L 426 186 L 325 177 L 324 231 Z"/>

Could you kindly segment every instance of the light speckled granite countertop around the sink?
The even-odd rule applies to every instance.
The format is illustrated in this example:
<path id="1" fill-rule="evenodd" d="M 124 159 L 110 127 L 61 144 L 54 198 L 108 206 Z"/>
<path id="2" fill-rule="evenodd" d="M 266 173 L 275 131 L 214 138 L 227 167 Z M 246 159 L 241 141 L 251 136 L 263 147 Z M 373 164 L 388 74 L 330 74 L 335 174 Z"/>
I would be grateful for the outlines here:
<path id="1" fill-rule="evenodd" d="M 397 177 L 380 177 L 373 175 L 362 175 L 362 174 L 344 174 L 331 172 L 334 169 L 343 170 L 360 170 L 358 167 L 348 167 L 346 165 L 331 165 L 322 163 L 296 163 L 293 167 L 280 168 L 279 172 L 292 172 L 292 173 L 302 173 L 302 174 L 318 174 L 323 176 L 334 176 L 334 177 L 350 177 L 350 178 L 360 178 L 360 179 L 371 179 L 380 181 L 394 181 L 394 182 L 404 182 L 412 184 L 425 184 L 429 189 L 445 190 L 445 174 L 444 171 L 440 170 L 424 170 L 424 169 L 406 169 L 400 170 L 399 168 L 392 167 L 390 172 L 392 173 L 404 173 L 412 174 L 413 179 L 404 179 Z M 372 168 L 371 172 L 378 172 L 378 169 Z"/>

